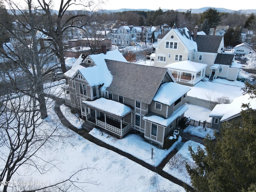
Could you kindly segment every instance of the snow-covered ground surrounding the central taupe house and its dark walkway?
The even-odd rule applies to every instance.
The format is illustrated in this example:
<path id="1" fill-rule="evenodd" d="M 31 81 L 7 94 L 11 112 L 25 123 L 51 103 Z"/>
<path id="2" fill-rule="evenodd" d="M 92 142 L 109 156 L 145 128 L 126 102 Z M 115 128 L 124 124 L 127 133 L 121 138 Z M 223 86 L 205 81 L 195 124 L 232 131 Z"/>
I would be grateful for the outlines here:
<path id="1" fill-rule="evenodd" d="M 70 64 L 72 64 L 72 62 L 73 61 L 71 59 Z M 146 62 L 150 65 L 149 60 Z M 144 61 L 142 63 L 144 64 Z M 54 87 L 51 87 L 52 84 L 45 85 L 45 87 L 48 88 L 47 92 L 49 94 L 56 95 L 58 98 L 64 98 L 64 93 L 61 88 L 63 86 L 63 82 L 64 80 L 54 82 L 54 84 L 60 83 L 59 86 Z M 213 95 L 216 97 L 226 95 L 232 99 L 242 95 L 241 87 L 244 85 L 241 84 L 241 82 L 238 84 L 235 82 L 235 85 L 230 85 L 228 83 L 230 82 L 216 80 L 207 84 L 199 84 L 200 86 L 195 86 L 194 88 L 197 89 L 197 91 L 201 90 L 201 92 L 204 93 L 202 94 L 203 96 Z M 193 89 L 190 90 L 190 92 L 191 94 L 195 94 L 193 93 Z M 187 106 L 189 109 L 186 111 L 185 116 L 195 120 L 207 120 L 210 122 L 210 118 L 208 117 L 210 110 L 191 104 L 187 104 Z M 61 111 L 71 124 L 77 128 L 81 128 L 82 121 L 78 120 L 78 118 L 70 112 L 69 108 L 62 105 Z M 56 120 L 58 120 L 58 116 L 55 114 L 53 107 L 49 108 L 48 114 L 48 119 L 44 124 L 41 125 L 44 127 L 44 129 L 50 129 L 53 126 L 56 126 Z M 58 122 L 60 121 L 58 120 Z M 56 166 L 52 166 L 45 174 L 39 174 L 34 169 L 27 170 L 27 167 L 24 166 L 19 170 L 19 175 L 17 174 L 13 178 L 14 180 L 23 182 L 42 181 L 44 182 L 43 184 L 50 185 L 54 182 L 68 178 L 77 170 L 82 168 L 90 168 L 79 172 L 79 174 L 72 177 L 73 180 L 78 182 L 76 183 L 78 186 L 83 187 L 84 190 L 89 192 L 185 191 L 183 187 L 162 178 L 162 176 L 159 176 L 143 166 L 138 165 L 132 160 L 129 160 L 126 157 L 112 152 L 111 150 L 107 150 L 106 148 L 102 148 L 82 138 L 78 134 L 75 134 L 71 130 L 65 128 L 65 126 L 62 124 L 58 126 L 59 131 L 63 132 L 68 137 L 63 138 L 63 142 L 55 142 L 53 143 L 53 146 L 46 146 L 37 154 L 38 157 L 43 158 L 44 160 L 53 160 L 52 162 Z M 204 130 L 200 126 L 188 126 L 184 132 L 188 132 L 192 135 L 200 137 L 205 137 L 208 133 L 212 136 L 214 134 L 213 130 L 208 128 Z M 145 142 L 140 136 L 134 134 L 128 135 L 122 140 L 118 140 L 112 136 L 108 136 L 104 132 L 102 133 L 96 128 L 94 128 L 90 134 L 103 142 L 136 156 L 148 164 L 156 166 L 174 147 L 173 146 L 169 150 L 160 150 L 157 147 Z M 198 145 L 203 148 L 201 144 L 192 141 L 182 143 L 181 138 L 179 138 L 176 142 L 176 147 L 179 149 L 178 153 L 170 160 L 168 164 L 166 164 L 164 171 L 190 185 L 190 178 L 186 172 L 186 169 L 184 166 L 180 165 L 184 165 L 184 161 L 193 163 L 188 152 L 188 146 L 192 146 L 192 149 L 196 150 Z M 151 148 L 154 149 L 153 160 L 151 160 Z M 179 161 L 177 161 L 175 164 L 174 160 L 176 159 L 179 159 Z M 172 164 L 172 166 L 170 166 L 170 164 Z M 95 182 L 95 184 L 91 184 L 91 182 Z M 78 190 L 73 189 L 70 191 Z"/>

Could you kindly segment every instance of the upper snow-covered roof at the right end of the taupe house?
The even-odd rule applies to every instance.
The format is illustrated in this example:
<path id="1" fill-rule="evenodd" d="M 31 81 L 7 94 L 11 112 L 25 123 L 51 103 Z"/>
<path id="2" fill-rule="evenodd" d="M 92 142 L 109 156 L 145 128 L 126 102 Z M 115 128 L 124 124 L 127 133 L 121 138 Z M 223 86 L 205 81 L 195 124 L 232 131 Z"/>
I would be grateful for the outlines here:
<path id="1" fill-rule="evenodd" d="M 191 88 L 174 82 L 164 83 L 160 86 L 153 100 L 170 106 Z"/>

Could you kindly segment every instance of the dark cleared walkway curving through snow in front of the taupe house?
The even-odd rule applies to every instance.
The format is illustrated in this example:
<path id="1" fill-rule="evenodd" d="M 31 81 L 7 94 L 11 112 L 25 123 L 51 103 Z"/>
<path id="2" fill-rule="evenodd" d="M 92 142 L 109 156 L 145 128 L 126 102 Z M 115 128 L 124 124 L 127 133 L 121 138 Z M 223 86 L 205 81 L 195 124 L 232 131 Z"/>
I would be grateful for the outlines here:
<path id="1" fill-rule="evenodd" d="M 184 182 L 182 182 L 181 180 L 178 180 L 177 178 L 173 177 L 172 175 L 166 173 L 163 171 L 163 168 L 164 166 L 166 165 L 166 163 L 170 160 L 170 158 L 172 158 L 172 156 L 174 156 L 178 150 L 177 149 L 174 149 L 172 152 L 170 152 L 168 154 L 168 156 L 166 156 L 166 158 L 164 158 L 162 160 L 162 162 L 157 166 L 157 167 L 154 167 L 134 156 L 132 156 L 131 154 L 128 154 L 118 148 L 115 148 L 113 146 L 110 146 L 109 144 L 106 144 L 104 142 L 102 142 L 101 140 L 93 137 L 92 135 L 90 135 L 88 133 L 88 130 L 85 130 L 85 129 L 78 129 L 76 128 L 75 126 L 73 126 L 72 124 L 70 124 L 70 122 L 68 120 L 66 120 L 65 116 L 62 114 L 61 110 L 60 110 L 60 106 L 62 104 L 65 103 L 65 100 L 64 99 L 60 99 L 60 98 L 55 98 L 54 96 L 50 96 L 52 99 L 54 99 L 56 101 L 55 103 L 55 107 L 54 107 L 54 111 L 56 112 L 56 114 L 58 115 L 58 117 L 60 118 L 60 121 L 62 122 L 62 124 L 64 126 L 66 126 L 67 128 L 73 130 L 74 132 L 76 132 L 77 134 L 79 134 L 80 136 L 84 137 L 85 139 L 89 140 L 90 142 L 93 142 L 94 144 L 97 144 L 98 146 L 101 146 L 101 147 L 104 147 L 108 150 L 112 150 L 142 166 L 144 166 L 145 168 L 147 168 L 148 170 L 151 170 L 153 172 L 157 172 L 160 176 L 170 180 L 171 182 L 174 182 L 175 184 L 178 184 L 180 186 L 184 186 L 186 185 Z M 184 133 L 185 135 L 187 135 L 186 133 Z M 186 136 L 186 138 L 189 138 L 189 136 Z M 200 138 L 198 138 L 200 140 Z M 188 186 L 188 188 L 190 189 L 190 191 L 193 191 L 193 188 Z"/>

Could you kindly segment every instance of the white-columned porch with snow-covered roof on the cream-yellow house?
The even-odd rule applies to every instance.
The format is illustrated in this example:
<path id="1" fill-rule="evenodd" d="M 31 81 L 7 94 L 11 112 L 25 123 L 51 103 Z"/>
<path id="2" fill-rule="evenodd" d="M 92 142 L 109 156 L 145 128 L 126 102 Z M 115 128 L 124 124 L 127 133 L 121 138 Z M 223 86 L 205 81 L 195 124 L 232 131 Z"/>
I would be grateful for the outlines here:
<path id="1" fill-rule="evenodd" d="M 176 82 L 195 85 L 205 77 L 206 64 L 189 60 L 166 65 Z"/>

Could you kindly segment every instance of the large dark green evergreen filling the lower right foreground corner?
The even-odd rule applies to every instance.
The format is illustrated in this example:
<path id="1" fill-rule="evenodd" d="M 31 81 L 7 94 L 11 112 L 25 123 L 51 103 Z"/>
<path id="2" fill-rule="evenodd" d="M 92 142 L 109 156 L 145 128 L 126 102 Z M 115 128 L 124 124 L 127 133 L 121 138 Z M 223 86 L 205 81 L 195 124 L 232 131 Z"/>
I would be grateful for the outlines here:
<path id="1" fill-rule="evenodd" d="M 256 98 L 256 85 L 246 83 L 243 89 Z M 208 136 L 205 149 L 190 154 L 195 166 L 186 164 L 192 186 L 198 192 L 254 191 L 256 184 L 256 111 L 243 104 L 241 119 L 225 122 L 216 140 Z"/>

